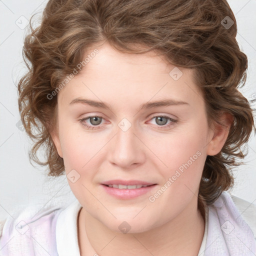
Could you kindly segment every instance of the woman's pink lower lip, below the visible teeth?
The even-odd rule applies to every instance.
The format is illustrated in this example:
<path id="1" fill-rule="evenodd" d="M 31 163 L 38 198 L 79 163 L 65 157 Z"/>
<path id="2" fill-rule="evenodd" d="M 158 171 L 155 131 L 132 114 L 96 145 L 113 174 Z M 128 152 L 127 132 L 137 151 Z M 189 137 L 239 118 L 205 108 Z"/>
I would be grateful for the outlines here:
<path id="1" fill-rule="evenodd" d="M 101 184 L 101 186 L 104 187 L 105 191 L 108 194 L 113 195 L 118 199 L 131 199 L 149 192 L 156 185 L 150 185 L 150 186 L 134 188 L 134 189 L 125 189 L 125 188 L 120 189 L 115 187 L 109 187 L 103 184 Z"/>

